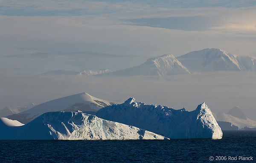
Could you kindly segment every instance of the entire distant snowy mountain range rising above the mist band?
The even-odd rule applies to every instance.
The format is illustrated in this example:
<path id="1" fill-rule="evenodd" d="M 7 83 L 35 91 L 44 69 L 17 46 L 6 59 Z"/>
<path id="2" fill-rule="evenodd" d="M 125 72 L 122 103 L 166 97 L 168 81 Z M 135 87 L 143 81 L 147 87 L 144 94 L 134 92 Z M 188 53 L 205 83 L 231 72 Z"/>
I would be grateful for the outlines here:
<path id="1" fill-rule="evenodd" d="M 100 76 L 135 76 L 135 75 L 175 75 L 209 71 L 256 71 L 256 58 L 230 54 L 221 49 L 192 51 L 175 58 L 172 54 L 148 59 L 140 66 L 111 70 L 88 70 L 81 72 L 56 70 L 41 75 L 100 75 Z"/>

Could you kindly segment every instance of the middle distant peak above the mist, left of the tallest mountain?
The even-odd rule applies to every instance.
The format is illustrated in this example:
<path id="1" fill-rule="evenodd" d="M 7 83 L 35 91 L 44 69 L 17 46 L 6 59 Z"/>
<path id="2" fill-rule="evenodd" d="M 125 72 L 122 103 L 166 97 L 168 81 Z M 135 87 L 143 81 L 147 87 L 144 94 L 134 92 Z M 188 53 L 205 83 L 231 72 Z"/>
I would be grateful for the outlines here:
<path id="1" fill-rule="evenodd" d="M 113 71 L 107 75 L 114 76 L 136 76 L 136 75 L 172 75 L 189 74 L 186 69 L 172 54 L 148 59 L 140 66 Z"/>

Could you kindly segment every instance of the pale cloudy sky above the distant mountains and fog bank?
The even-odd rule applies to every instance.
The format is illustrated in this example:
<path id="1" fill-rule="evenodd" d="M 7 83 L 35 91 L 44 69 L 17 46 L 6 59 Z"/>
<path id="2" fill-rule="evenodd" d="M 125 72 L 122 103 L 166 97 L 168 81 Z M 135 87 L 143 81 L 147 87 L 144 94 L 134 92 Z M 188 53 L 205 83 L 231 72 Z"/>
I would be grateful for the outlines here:
<path id="1" fill-rule="evenodd" d="M 0 0 L 0 74 L 116 71 L 206 48 L 256 56 L 255 15 L 254 0 Z"/>

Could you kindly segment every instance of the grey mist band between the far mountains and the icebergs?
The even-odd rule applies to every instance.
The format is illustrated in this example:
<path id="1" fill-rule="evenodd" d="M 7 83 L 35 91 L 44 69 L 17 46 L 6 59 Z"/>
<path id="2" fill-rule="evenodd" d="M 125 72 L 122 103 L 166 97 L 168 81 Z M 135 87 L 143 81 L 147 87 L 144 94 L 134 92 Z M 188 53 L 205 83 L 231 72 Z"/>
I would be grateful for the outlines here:
<path id="1" fill-rule="evenodd" d="M 210 72 L 169 76 L 24 76 L 0 75 L 0 109 L 26 106 L 87 92 L 105 99 L 125 101 L 134 97 L 146 104 L 195 110 L 205 102 L 212 112 L 238 106 L 256 120 L 256 73 Z"/>

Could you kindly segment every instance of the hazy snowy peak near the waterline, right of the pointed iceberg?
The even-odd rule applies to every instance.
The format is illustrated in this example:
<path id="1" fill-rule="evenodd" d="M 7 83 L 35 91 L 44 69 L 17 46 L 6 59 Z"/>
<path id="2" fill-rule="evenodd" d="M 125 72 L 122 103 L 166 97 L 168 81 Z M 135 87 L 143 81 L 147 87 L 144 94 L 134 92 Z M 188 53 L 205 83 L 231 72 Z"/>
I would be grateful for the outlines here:
<path id="1" fill-rule="evenodd" d="M 231 125 L 237 126 L 238 129 L 243 129 L 244 127 L 256 128 L 256 122 L 247 118 L 239 107 L 233 107 L 227 113 L 218 112 L 213 115 L 218 122 L 229 122 Z M 221 129 L 227 130 L 225 126 L 219 125 Z"/>

